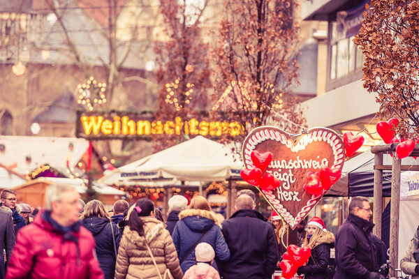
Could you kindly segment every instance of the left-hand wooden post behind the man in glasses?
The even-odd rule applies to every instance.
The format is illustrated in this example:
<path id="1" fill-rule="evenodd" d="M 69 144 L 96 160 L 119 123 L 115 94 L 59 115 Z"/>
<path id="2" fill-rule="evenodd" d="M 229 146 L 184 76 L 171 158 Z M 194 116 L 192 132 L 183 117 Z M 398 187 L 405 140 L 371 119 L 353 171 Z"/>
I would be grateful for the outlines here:
<path id="1" fill-rule="evenodd" d="M 376 153 L 374 165 L 383 165 L 383 153 Z M 383 170 L 374 169 L 373 233 L 381 239 L 381 213 L 383 213 Z"/>

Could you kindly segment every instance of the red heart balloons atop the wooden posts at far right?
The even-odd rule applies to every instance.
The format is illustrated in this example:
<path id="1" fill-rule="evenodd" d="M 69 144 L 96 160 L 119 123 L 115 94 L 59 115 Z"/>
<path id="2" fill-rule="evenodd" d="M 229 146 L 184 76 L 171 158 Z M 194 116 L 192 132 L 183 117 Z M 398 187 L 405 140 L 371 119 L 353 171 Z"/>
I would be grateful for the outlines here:
<path id="1" fill-rule="evenodd" d="M 411 139 L 399 139 L 396 136 L 395 128 L 399 125 L 399 120 L 392 118 L 388 121 L 380 121 L 376 125 L 377 133 L 380 135 L 381 139 L 386 144 L 392 144 L 394 142 L 399 142 L 396 147 L 397 157 L 402 159 L 409 156 L 413 149 L 415 149 L 415 144 L 419 143 L 419 140 Z M 416 159 L 416 158 L 415 158 Z"/>

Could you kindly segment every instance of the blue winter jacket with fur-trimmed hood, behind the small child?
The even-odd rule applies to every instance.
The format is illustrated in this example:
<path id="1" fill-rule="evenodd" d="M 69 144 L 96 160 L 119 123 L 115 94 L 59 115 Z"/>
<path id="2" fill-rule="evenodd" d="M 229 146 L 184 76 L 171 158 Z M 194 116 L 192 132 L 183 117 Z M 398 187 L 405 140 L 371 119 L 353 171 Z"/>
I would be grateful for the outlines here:
<path id="1" fill-rule="evenodd" d="M 221 234 L 221 229 L 216 225 L 216 218 L 211 211 L 201 209 L 186 209 L 179 213 L 179 222 L 177 222 L 172 233 L 173 243 L 182 259 L 186 252 L 200 239 L 200 237 L 208 232 L 200 242 L 209 243 L 215 251 L 215 258 L 225 262 L 230 259 L 230 250 L 226 241 Z M 180 264 L 182 271 L 186 272 L 191 266 L 196 264 L 195 250 L 184 259 Z M 216 264 L 212 265 L 216 269 Z"/>

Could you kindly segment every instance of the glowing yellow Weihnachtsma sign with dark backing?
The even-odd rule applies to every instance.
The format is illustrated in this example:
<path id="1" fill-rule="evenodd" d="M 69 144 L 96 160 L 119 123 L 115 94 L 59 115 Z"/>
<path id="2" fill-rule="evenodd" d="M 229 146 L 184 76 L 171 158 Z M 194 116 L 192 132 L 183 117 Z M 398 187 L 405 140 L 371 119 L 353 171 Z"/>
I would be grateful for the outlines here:
<path id="1" fill-rule="evenodd" d="M 163 134 L 221 137 L 242 133 L 243 128 L 237 121 L 198 121 L 180 117 L 163 121 L 146 114 L 123 112 L 78 112 L 76 123 L 76 137 L 89 139 L 142 138 Z"/>

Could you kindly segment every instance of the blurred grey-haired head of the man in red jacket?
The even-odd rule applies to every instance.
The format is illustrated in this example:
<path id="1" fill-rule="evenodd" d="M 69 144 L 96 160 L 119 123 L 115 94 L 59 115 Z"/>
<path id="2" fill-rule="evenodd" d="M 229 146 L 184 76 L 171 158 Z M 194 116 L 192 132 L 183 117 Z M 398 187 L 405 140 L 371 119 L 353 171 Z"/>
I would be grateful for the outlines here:
<path id="1" fill-rule="evenodd" d="M 71 185 L 52 184 L 45 191 L 45 209 L 62 226 L 77 223 L 80 216 L 80 195 Z"/>

